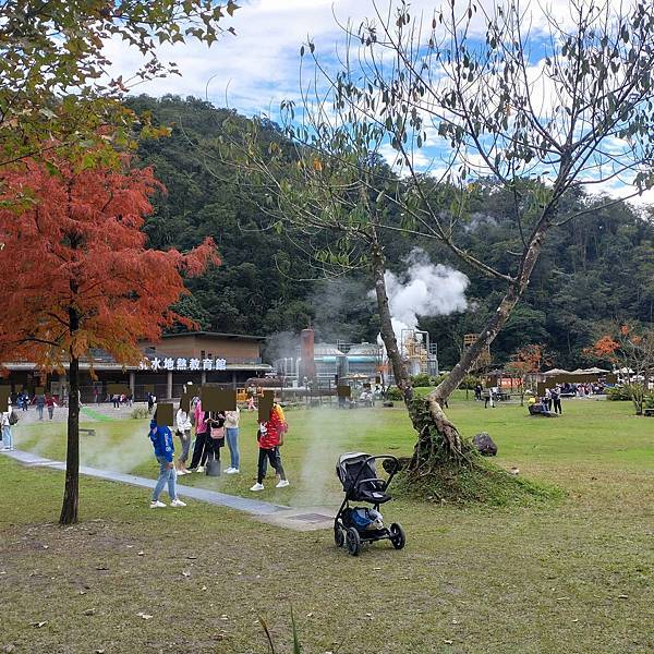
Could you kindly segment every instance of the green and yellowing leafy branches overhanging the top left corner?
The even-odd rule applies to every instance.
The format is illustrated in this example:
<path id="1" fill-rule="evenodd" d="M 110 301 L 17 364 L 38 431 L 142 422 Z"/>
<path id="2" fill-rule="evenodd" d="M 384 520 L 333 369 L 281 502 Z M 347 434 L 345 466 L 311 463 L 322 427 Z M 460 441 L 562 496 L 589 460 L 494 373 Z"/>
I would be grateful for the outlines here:
<path id="1" fill-rule="evenodd" d="M 124 147 L 134 120 L 120 101 L 124 93 L 178 73 L 157 46 L 186 39 L 210 46 L 237 9 L 233 0 L 0 2 L 0 166 L 44 149 L 82 155 L 94 144 L 99 155 L 98 144 Z M 109 39 L 138 51 L 137 70 L 114 76 Z"/>

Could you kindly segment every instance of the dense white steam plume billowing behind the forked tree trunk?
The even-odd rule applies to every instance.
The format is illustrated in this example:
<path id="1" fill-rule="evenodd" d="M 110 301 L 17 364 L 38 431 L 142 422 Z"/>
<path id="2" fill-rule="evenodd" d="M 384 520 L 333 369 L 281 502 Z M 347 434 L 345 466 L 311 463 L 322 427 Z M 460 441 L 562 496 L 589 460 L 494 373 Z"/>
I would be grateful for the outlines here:
<path id="1" fill-rule="evenodd" d="M 386 291 L 398 340 L 402 329 L 415 329 L 417 316 L 445 316 L 465 311 L 465 289 L 470 280 L 463 272 L 441 264 L 434 265 L 420 249 L 407 257 L 407 271 L 398 277 L 385 274 Z"/>

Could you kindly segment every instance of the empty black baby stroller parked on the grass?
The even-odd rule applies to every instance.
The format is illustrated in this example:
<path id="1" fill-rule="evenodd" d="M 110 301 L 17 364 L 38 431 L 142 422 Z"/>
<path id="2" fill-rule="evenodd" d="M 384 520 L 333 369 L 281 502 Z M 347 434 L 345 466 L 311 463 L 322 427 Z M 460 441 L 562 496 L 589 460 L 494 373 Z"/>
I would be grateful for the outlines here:
<path id="1" fill-rule="evenodd" d="M 375 470 L 375 461 L 384 459 L 392 462 L 392 470 L 386 481 L 380 480 Z M 397 522 L 388 528 L 384 526 L 379 513 L 379 506 L 392 499 L 387 491 L 398 470 L 398 460 L 390 455 L 341 455 L 336 474 L 343 485 L 346 498 L 334 519 L 334 541 L 337 547 L 344 546 L 352 556 L 359 556 L 363 543 L 375 541 L 388 540 L 396 549 L 404 547 L 404 530 Z M 364 501 L 373 505 L 373 508 L 351 507 L 350 501 Z"/>

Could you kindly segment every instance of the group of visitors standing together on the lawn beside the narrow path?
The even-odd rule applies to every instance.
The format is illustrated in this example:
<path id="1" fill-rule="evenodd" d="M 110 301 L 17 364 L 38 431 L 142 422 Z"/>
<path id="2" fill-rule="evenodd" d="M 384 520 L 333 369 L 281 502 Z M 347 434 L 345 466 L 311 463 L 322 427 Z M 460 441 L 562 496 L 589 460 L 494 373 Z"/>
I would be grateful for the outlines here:
<path id="1" fill-rule="evenodd" d="M 152 400 L 154 408 L 156 398 L 148 397 L 148 405 Z M 250 402 L 247 402 L 250 407 Z M 159 477 L 153 492 L 150 507 L 162 508 L 166 506 L 159 496 L 168 486 L 170 506 L 185 506 L 177 497 L 177 477 L 193 472 L 213 474 L 213 470 L 220 465 L 220 451 L 227 445 L 230 455 L 230 465 L 225 470 L 226 474 L 240 474 L 241 455 L 239 451 L 240 409 L 235 411 L 205 411 L 198 397 L 192 399 L 190 411 L 179 407 L 175 415 L 175 435 L 180 440 L 181 453 L 174 461 L 174 439 L 169 427 L 150 422 L 149 438 L 153 443 L 155 457 L 159 463 Z M 288 432 L 288 423 L 283 409 L 275 401 L 270 409 L 268 419 L 258 423 L 256 434 L 258 444 L 258 461 L 256 483 L 250 488 L 253 492 L 264 489 L 267 464 L 275 470 L 277 476 L 277 488 L 289 486 L 281 462 L 279 448 L 283 445 L 284 435 Z M 193 440 L 195 432 L 195 440 Z M 189 456 L 191 463 L 186 467 Z"/>

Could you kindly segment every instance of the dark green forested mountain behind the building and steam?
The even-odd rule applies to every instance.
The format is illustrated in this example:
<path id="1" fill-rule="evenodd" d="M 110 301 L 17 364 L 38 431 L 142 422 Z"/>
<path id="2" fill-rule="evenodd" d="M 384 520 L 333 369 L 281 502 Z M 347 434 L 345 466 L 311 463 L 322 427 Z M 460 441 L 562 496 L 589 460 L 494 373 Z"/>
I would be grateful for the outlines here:
<path id="1" fill-rule="evenodd" d="M 172 124 L 169 138 L 146 141 L 138 153 L 152 165 L 168 192 L 156 199 L 146 231 L 156 247 L 187 249 L 210 234 L 222 265 L 189 281 L 191 295 L 180 313 L 203 328 L 217 331 L 272 335 L 296 331 L 312 323 L 319 340 L 372 340 L 377 319 L 364 271 L 336 281 L 311 281 L 313 272 L 295 244 L 266 225 L 257 198 L 247 197 L 233 169 L 211 157 L 222 122 L 235 113 L 202 100 L 177 97 L 130 100 L 153 121 Z M 274 124 L 269 137 L 282 140 Z M 593 203 L 567 198 L 572 210 Z M 595 203 L 596 204 L 596 203 Z M 471 199 L 464 245 L 481 258 L 506 269 L 519 235 L 510 219 L 509 198 L 492 181 Z M 553 362 L 576 366 L 582 350 L 613 320 L 652 322 L 654 317 L 654 211 L 629 206 L 592 209 L 552 232 L 524 301 L 493 344 L 493 359 L 505 362 L 525 343 L 544 343 Z M 473 310 L 450 316 L 423 317 L 421 327 L 438 342 L 443 366 L 455 363 L 462 336 L 479 330 L 497 306 L 499 291 L 492 280 L 467 270 L 432 241 L 387 235 L 389 266 L 405 268 L 404 257 L 415 246 L 435 263 L 468 274 Z"/>

